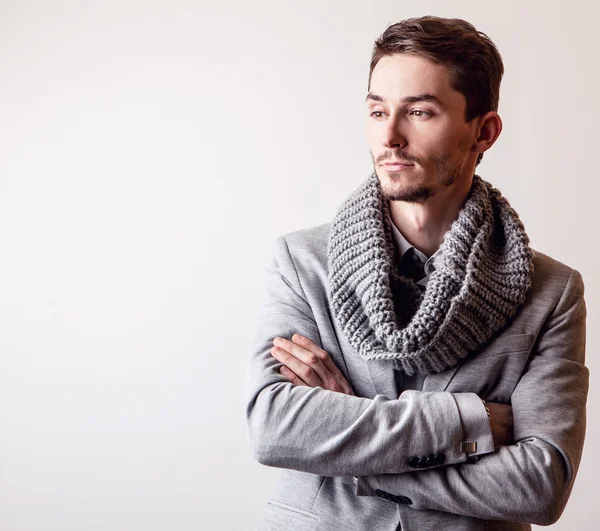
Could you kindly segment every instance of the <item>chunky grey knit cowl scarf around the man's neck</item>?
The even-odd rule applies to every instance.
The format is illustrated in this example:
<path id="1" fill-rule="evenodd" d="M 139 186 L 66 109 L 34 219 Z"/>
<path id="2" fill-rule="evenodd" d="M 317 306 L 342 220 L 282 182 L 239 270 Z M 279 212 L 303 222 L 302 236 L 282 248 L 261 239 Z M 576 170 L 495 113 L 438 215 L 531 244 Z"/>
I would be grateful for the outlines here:
<path id="1" fill-rule="evenodd" d="M 425 291 L 398 273 L 389 202 L 373 172 L 338 210 L 328 244 L 329 300 L 366 360 L 407 374 L 443 371 L 513 317 L 534 267 L 519 215 L 478 175 L 440 247 Z"/>

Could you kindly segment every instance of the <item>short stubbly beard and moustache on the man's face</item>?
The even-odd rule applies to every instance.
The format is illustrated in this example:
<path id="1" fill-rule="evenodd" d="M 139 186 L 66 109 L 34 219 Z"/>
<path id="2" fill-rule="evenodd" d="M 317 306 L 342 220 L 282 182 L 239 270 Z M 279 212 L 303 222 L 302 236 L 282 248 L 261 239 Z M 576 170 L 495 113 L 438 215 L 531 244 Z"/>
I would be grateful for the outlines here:
<path id="1" fill-rule="evenodd" d="M 433 157 L 432 165 L 435 172 L 435 184 L 429 185 L 420 182 L 411 183 L 410 177 L 405 174 L 407 171 L 386 171 L 383 176 L 377 173 L 375 159 L 373 154 L 373 168 L 377 173 L 384 197 L 389 201 L 405 201 L 407 203 L 425 203 L 429 198 L 436 195 L 440 189 L 452 186 L 460 177 L 465 158 L 469 153 L 471 138 L 465 135 L 453 152 L 446 152 Z M 407 160 L 406 157 L 395 154 L 395 158 Z M 412 160 L 412 159 L 411 159 Z M 402 182 L 402 181 L 408 182 Z"/>

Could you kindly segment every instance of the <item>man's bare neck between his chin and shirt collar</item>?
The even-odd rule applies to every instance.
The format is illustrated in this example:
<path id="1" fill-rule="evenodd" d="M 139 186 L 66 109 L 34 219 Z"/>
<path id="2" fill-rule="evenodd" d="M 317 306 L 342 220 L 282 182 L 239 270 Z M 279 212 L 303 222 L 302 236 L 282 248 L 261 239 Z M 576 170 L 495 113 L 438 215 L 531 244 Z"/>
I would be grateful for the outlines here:
<path id="1" fill-rule="evenodd" d="M 440 188 L 425 203 L 390 201 L 390 217 L 402 235 L 425 256 L 433 255 L 444 241 L 444 235 L 458 218 L 471 184 L 459 179 L 455 185 Z"/>

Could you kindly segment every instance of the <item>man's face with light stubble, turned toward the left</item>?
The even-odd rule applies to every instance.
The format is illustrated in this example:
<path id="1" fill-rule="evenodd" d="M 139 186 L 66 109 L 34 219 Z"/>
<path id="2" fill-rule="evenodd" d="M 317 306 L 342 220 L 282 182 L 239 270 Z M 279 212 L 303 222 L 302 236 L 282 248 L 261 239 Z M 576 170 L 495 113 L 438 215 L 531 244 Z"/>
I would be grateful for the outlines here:
<path id="1" fill-rule="evenodd" d="M 366 105 L 367 142 L 388 199 L 424 203 L 472 177 L 477 120 L 465 122 L 465 97 L 450 87 L 444 66 L 407 54 L 383 57 Z"/>

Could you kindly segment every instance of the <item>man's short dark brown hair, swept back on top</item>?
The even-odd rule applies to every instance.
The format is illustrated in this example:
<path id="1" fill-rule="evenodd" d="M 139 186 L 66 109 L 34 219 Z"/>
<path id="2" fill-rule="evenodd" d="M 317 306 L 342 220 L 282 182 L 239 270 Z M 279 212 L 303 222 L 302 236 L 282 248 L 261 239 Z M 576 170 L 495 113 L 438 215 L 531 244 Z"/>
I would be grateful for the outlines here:
<path id="1" fill-rule="evenodd" d="M 373 46 L 367 92 L 379 60 L 398 53 L 417 55 L 448 69 L 450 86 L 467 101 L 466 122 L 498 112 L 502 56 L 492 40 L 469 22 L 427 15 L 389 25 Z M 475 166 L 482 158 L 480 153 Z"/>

